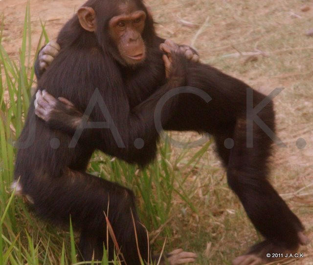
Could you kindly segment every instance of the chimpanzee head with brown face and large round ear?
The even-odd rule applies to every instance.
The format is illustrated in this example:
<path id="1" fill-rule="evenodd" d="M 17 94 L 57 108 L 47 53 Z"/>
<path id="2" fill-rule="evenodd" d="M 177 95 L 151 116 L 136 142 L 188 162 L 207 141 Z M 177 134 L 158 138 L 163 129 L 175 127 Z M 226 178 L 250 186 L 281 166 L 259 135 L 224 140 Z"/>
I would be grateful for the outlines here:
<path id="1" fill-rule="evenodd" d="M 103 50 L 119 63 L 135 66 L 145 60 L 155 31 L 142 0 L 89 0 L 77 16 L 82 28 L 94 32 Z"/>

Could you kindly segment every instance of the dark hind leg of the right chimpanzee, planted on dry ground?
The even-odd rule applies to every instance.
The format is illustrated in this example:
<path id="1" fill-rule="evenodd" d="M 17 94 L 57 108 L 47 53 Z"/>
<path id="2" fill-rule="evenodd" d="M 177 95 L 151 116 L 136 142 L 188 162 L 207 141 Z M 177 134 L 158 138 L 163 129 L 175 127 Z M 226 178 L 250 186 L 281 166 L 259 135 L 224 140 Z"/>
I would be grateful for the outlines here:
<path id="1" fill-rule="evenodd" d="M 260 111 L 258 116 L 274 131 L 274 112 L 271 103 Z M 262 128 L 254 124 L 251 132 L 253 147 L 249 148 L 248 133 L 246 117 L 238 118 L 232 132 L 234 147 L 230 151 L 227 150 L 223 141 L 225 137 L 218 137 L 217 149 L 224 163 L 227 163 L 225 158 L 229 154 L 228 184 L 241 200 L 256 229 L 266 238 L 262 244 L 252 247 L 249 253 L 262 260 L 268 260 L 267 253 L 296 250 L 300 244 L 298 233 L 304 228 L 267 180 L 272 140 Z M 245 262 L 243 264 L 250 264 Z"/>

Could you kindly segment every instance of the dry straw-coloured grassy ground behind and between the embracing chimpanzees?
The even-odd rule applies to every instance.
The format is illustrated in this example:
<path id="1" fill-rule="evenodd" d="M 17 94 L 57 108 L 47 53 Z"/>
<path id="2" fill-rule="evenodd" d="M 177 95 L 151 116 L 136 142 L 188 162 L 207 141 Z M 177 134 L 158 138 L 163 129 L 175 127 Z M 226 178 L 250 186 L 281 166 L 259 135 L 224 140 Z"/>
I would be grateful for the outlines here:
<path id="1" fill-rule="evenodd" d="M 56 3 L 64 7 L 64 2 L 67 2 L 67 17 L 53 13 L 57 12 L 57 8 L 52 11 L 44 8 L 45 5 L 55 6 Z M 159 22 L 157 28 L 162 37 L 194 44 L 202 61 L 244 80 L 264 93 L 276 87 L 285 87 L 275 99 L 275 107 L 279 137 L 288 148 L 277 148 L 271 178 L 305 224 L 307 234 L 313 238 L 313 37 L 305 35 L 313 28 L 313 1 L 147 2 Z M 44 4 L 39 6 L 36 3 Z M 72 0 L 31 0 L 36 12 L 44 9 L 45 14 L 50 14 L 52 19 L 47 24 L 47 31 L 51 29 L 52 36 L 70 16 L 68 6 L 73 3 Z M 302 12 L 304 5 L 310 10 Z M 21 10 L 22 17 L 23 6 L 14 8 L 14 12 Z M 7 18 L 5 12 L 12 14 L 13 11 L 4 9 Z M 53 17 L 56 19 L 53 20 Z M 14 17 L 7 21 L 4 42 L 10 46 L 21 36 Z M 38 17 L 33 17 L 32 21 L 35 26 L 39 25 Z M 10 31 L 10 26 L 14 27 L 14 31 Z M 190 134 L 187 137 L 195 136 Z M 306 148 L 296 147 L 299 138 L 306 140 Z M 180 150 L 175 152 L 179 154 Z M 190 156 L 194 152 L 196 150 L 191 150 Z M 190 174 L 185 187 L 191 193 L 198 212 L 192 212 L 179 198 L 176 200 L 173 207 L 175 215 L 168 224 L 173 230 L 170 243 L 173 248 L 182 246 L 198 252 L 198 264 L 230 264 L 232 258 L 260 238 L 247 220 L 238 199 L 227 187 L 225 173 L 214 152 L 207 152 L 200 164 L 192 172 L 188 172 L 188 168 L 181 172 L 182 177 Z M 302 252 L 306 258 L 292 261 L 291 264 L 313 265 L 313 243 Z"/>

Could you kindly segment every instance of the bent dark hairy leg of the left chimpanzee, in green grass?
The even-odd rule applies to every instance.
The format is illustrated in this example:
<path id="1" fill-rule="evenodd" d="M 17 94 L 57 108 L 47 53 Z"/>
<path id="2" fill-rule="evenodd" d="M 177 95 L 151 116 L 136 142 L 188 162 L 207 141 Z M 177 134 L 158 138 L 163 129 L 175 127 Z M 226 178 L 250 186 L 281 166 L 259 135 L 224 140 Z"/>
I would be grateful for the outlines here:
<path id="1" fill-rule="evenodd" d="M 69 169 L 60 177 L 44 175 L 36 179 L 32 188 L 25 190 L 33 198 L 36 213 L 63 225 L 69 224 L 70 216 L 74 228 L 81 232 L 79 250 L 84 260 L 89 261 L 92 257 L 101 260 L 103 246 L 108 250 L 110 260 L 114 248 L 117 252 L 111 235 L 107 237 L 106 215 L 123 254 L 120 259 L 124 257 L 127 265 L 140 264 L 136 237 L 141 258 L 148 259 L 147 233 L 139 223 L 131 190 Z"/>

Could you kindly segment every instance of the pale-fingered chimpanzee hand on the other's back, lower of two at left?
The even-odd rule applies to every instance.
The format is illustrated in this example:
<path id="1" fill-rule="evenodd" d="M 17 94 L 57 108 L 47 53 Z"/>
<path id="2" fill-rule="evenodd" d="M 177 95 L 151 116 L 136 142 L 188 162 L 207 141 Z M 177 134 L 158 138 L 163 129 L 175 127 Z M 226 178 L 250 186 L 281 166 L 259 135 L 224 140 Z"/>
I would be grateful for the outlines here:
<path id="1" fill-rule="evenodd" d="M 83 114 L 65 98 L 55 99 L 45 90 L 36 93 L 35 114 L 49 127 L 72 132 L 82 121 Z"/>

